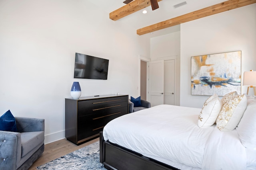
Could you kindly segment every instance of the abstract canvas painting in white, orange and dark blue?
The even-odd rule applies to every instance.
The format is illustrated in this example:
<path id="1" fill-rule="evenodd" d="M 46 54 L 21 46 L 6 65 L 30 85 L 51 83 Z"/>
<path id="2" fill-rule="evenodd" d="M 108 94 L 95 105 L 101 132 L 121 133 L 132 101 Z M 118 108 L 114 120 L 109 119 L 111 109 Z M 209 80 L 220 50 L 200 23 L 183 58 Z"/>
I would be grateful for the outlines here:
<path id="1" fill-rule="evenodd" d="M 191 94 L 241 94 L 241 51 L 191 57 Z"/>

